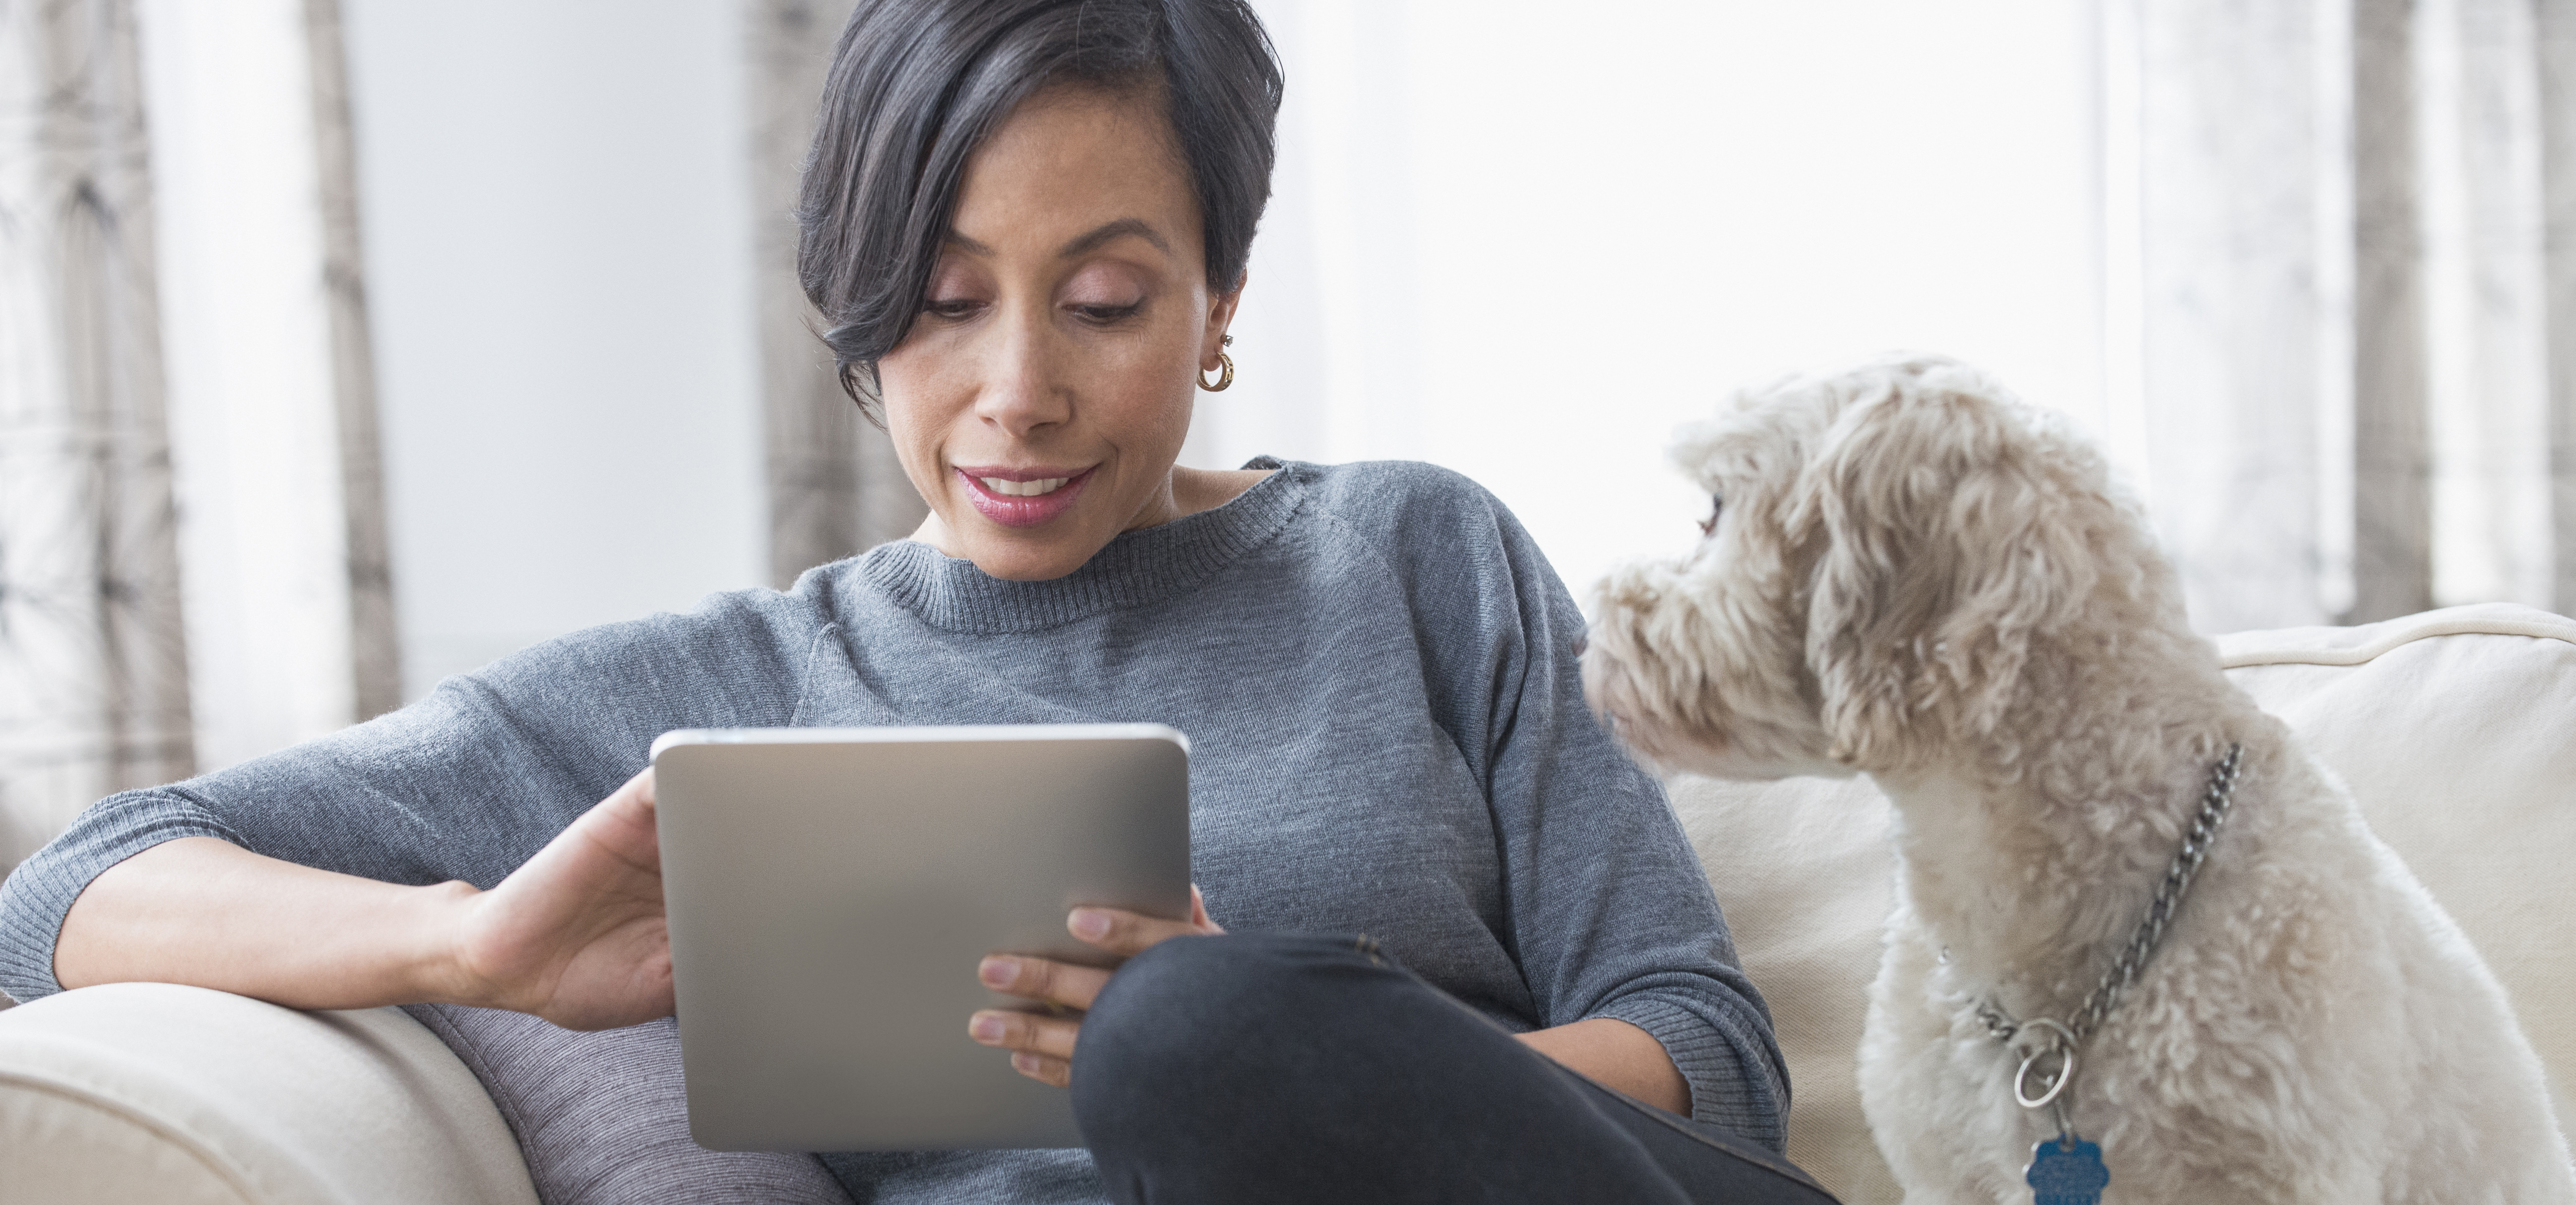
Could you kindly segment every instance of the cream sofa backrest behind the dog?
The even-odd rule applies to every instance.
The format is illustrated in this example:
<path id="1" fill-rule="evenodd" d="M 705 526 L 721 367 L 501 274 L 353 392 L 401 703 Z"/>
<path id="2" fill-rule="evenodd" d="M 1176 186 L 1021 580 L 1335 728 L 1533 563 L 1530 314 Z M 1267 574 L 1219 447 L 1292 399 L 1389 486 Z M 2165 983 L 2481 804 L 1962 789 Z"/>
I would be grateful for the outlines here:
<path id="1" fill-rule="evenodd" d="M 2576 621 L 2517 605 L 2218 639 L 2450 909 L 2576 1105 Z M 1855 1051 L 1893 906 L 1868 780 L 1669 783 L 1790 1063 L 1790 1159 L 1847 1202 L 1901 1197 L 1860 1117 Z"/>

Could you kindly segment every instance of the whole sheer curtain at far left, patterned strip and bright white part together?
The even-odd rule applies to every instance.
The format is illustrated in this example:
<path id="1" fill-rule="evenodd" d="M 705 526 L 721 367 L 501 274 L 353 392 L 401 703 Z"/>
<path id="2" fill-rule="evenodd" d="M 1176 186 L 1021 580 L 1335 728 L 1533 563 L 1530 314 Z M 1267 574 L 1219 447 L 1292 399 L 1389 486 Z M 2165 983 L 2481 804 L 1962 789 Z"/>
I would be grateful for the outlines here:
<path id="1" fill-rule="evenodd" d="M 335 0 L 0 0 L 0 865 L 399 700 Z"/>

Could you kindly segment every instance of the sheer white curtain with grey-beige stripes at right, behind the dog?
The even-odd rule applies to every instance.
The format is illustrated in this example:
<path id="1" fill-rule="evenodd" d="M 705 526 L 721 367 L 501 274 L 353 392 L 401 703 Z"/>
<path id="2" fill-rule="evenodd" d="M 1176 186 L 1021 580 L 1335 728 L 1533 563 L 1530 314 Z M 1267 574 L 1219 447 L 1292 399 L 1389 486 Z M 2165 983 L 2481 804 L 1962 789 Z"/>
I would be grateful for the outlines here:
<path id="1" fill-rule="evenodd" d="M 2205 631 L 2576 610 L 2571 13 L 2105 5 L 2110 363 Z"/>

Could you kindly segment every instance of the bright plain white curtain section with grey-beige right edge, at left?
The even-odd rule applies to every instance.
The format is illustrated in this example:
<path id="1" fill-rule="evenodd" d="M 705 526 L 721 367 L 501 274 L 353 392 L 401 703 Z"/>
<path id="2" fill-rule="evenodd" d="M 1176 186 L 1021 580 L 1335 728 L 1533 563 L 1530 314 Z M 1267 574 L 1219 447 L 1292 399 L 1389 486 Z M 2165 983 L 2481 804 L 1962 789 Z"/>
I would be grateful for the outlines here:
<path id="1" fill-rule="evenodd" d="M 402 698 L 335 0 L 137 0 L 201 767 Z"/>

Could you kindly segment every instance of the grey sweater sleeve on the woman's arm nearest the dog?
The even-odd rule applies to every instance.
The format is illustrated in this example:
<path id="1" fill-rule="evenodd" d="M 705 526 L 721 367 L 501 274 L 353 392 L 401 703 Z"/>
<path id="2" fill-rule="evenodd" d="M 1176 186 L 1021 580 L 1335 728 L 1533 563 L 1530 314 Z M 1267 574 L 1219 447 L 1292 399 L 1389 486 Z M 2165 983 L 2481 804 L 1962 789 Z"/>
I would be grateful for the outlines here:
<path id="1" fill-rule="evenodd" d="M 1450 682 L 1443 724 L 1494 808 L 1507 940 L 1538 1022 L 1646 1030 L 1690 1081 L 1692 1120 L 1780 1151 L 1788 1069 L 1770 1009 L 1662 783 L 1582 698 L 1582 613 L 1502 502 L 1461 487 L 1453 523 L 1417 530 L 1450 528 L 1450 556 L 1466 548 L 1468 564 L 1417 582 L 1417 615 L 1453 615 L 1427 631 Z"/>

